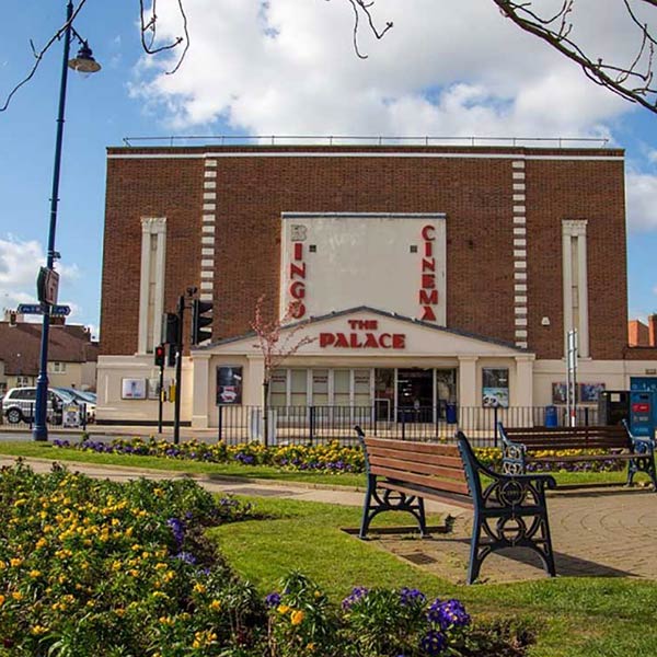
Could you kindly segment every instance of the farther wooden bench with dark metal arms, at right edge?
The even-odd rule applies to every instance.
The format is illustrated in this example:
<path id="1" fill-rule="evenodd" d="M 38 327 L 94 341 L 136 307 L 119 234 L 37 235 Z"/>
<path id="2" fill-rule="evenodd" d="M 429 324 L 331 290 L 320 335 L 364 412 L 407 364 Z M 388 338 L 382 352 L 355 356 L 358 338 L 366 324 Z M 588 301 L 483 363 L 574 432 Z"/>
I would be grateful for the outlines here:
<path id="1" fill-rule="evenodd" d="M 505 474 L 525 474 L 530 463 L 575 463 L 625 461 L 627 485 L 637 472 L 645 472 L 657 491 L 655 441 L 636 437 L 623 422 L 597 427 L 505 427 L 502 437 L 502 462 Z M 577 454 L 554 456 L 540 452 L 579 450 Z"/>

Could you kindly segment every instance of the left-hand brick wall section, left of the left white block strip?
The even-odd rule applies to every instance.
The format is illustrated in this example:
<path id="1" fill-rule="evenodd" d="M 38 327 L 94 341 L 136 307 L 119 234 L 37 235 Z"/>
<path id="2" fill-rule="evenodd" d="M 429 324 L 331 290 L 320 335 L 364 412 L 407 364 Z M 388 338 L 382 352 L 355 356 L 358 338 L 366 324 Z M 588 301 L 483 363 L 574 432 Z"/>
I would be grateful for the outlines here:
<path id="1" fill-rule="evenodd" d="M 101 354 L 135 354 L 141 219 L 166 217 L 164 310 L 198 285 L 203 160 L 107 160 Z M 185 322 L 187 324 L 187 322 Z"/>

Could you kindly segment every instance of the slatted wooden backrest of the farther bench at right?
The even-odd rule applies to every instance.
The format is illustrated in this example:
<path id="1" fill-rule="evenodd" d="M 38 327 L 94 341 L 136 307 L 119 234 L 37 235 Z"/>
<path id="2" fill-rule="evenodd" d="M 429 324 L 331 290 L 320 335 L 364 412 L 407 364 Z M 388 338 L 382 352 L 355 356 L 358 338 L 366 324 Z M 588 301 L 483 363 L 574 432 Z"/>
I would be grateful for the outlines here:
<path id="1" fill-rule="evenodd" d="M 502 427 L 503 436 L 530 450 L 620 449 L 631 447 L 622 425 L 596 427 Z"/>

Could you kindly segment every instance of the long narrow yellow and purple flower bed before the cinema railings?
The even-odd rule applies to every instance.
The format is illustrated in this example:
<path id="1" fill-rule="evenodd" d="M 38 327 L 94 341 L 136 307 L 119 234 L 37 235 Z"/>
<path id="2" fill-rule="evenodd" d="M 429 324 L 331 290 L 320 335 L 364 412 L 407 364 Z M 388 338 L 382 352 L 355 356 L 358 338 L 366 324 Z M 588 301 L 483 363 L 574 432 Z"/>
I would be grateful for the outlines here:
<path id="1" fill-rule="evenodd" d="M 360 447 L 343 446 L 337 440 L 326 445 L 288 445 L 265 447 L 260 442 L 226 445 L 223 442 L 205 443 L 187 440 L 172 445 L 155 438 L 116 439 L 112 442 L 83 440 L 71 443 L 56 439 L 54 447 L 80 449 L 97 453 L 128 454 L 136 457 L 159 457 L 164 459 L 186 459 L 205 463 L 241 463 L 243 465 L 273 465 L 285 470 L 311 471 L 341 474 L 344 472 L 365 472 L 365 459 Z M 502 451 L 494 447 L 475 449 L 479 460 L 488 468 L 502 472 Z M 579 450 L 545 451 L 540 456 L 573 456 Z M 589 453 L 603 453 L 589 452 Z M 592 462 L 550 462 L 530 463 L 528 472 L 614 472 L 623 470 L 624 463 L 618 460 Z"/>

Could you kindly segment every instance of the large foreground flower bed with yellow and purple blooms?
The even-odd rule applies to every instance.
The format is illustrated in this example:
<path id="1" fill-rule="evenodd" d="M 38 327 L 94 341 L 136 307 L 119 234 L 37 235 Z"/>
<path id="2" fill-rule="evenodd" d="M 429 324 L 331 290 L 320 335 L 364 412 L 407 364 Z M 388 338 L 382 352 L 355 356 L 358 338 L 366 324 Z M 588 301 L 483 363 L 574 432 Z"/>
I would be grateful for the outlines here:
<path id="1" fill-rule="evenodd" d="M 522 655 L 531 638 L 410 589 L 356 588 L 337 607 L 292 574 L 263 600 L 204 533 L 249 507 L 191 481 L 19 463 L 0 471 L 0 499 L 3 657 L 483 657 Z"/>

